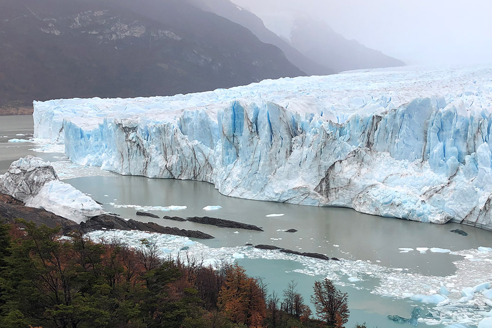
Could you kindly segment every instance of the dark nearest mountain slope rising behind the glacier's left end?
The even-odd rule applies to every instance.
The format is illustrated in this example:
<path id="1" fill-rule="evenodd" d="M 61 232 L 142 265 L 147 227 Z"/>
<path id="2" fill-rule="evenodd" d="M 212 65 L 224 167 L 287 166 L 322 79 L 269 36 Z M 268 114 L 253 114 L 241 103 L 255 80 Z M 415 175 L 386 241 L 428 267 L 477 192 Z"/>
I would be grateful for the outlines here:
<path id="1" fill-rule="evenodd" d="M 171 95 L 305 75 L 187 0 L 2 0 L 0 107 Z"/>

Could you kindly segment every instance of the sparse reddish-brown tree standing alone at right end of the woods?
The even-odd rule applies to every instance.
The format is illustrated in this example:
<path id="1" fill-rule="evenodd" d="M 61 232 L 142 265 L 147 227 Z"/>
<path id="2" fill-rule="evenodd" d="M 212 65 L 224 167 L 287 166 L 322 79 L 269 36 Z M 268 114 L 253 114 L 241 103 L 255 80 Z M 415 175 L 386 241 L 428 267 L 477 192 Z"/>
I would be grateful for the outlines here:
<path id="1" fill-rule="evenodd" d="M 340 292 L 330 279 L 314 282 L 311 302 L 316 314 L 328 326 L 342 328 L 348 321 L 348 294 Z"/>

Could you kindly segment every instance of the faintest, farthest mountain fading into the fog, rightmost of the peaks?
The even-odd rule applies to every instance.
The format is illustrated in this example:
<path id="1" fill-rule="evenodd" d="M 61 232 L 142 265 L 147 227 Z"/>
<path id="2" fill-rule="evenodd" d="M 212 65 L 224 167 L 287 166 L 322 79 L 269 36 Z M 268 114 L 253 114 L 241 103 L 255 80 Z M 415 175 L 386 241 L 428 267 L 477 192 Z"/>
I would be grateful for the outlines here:
<path id="1" fill-rule="evenodd" d="M 378 67 L 404 66 L 401 60 L 347 40 L 328 24 L 307 18 L 294 21 L 290 42 L 305 56 L 336 72 Z"/>

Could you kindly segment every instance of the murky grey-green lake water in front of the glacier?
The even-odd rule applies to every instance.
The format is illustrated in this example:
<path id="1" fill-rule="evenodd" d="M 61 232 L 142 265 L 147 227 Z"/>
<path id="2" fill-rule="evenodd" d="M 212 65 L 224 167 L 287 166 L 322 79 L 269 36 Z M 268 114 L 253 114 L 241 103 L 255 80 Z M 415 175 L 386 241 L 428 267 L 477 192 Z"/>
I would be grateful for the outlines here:
<path id="1" fill-rule="evenodd" d="M 33 133 L 31 116 L 0 117 L 0 174 L 9 164 L 28 154 L 45 160 L 57 162 L 63 159 L 60 153 L 35 152 L 38 146 L 32 143 L 8 143 L 9 139 L 29 139 Z M 25 135 L 25 136 L 16 136 Z M 66 165 L 66 164 L 65 164 Z M 121 214 L 125 218 L 140 221 L 154 221 L 161 225 L 181 229 L 200 230 L 211 234 L 215 239 L 197 240 L 212 248 L 236 247 L 246 243 L 272 244 L 300 252 L 316 252 L 330 257 L 369 263 L 404 270 L 420 276 L 449 276 L 456 271 L 453 263 L 462 256 L 428 251 L 405 251 L 405 248 L 438 247 L 451 251 L 491 246 L 491 232 L 462 226 L 456 223 L 431 225 L 394 218 L 383 218 L 356 212 L 352 209 L 317 208 L 260 202 L 231 198 L 218 193 L 214 186 L 205 182 L 171 179 L 148 179 L 145 177 L 120 176 L 106 173 L 103 176 L 86 176 L 65 179 L 67 183 L 103 203 L 108 212 Z M 162 218 L 137 216 L 138 206 L 186 206 L 186 209 L 159 211 L 151 210 L 159 216 L 212 216 L 230 219 L 262 227 L 264 232 L 223 229 L 192 222 L 175 222 Z M 204 210 L 206 206 L 220 206 L 217 210 Z M 269 214 L 283 214 L 269 216 Z M 296 233 L 286 233 L 286 229 L 297 229 Z M 462 229 L 468 236 L 451 233 Z M 403 248 L 403 250 L 402 250 Z M 298 283 L 297 289 L 309 303 L 309 295 L 315 280 L 324 276 L 310 273 L 305 266 L 285 259 L 238 259 L 252 276 L 260 276 L 268 284 L 270 291 L 281 295 L 291 280 Z M 321 260 L 319 260 L 321 261 Z M 362 281 L 349 283 L 349 276 L 340 276 L 339 281 L 346 284 L 338 286 L 349 294 L 350 319 L 347 328 L 356 323 L 366 322 L 368 327 L 393 328 L 408 324 L 394 323 L 387 315 L 400 315 L 408 318 L 414 306 L 423 306 L 421 315 L 425 316 L 426 306 L 409 298 L 390 298 L 370 293 L 379 284 L 377 278 L 362 277 Z M 427 327 L 425 323 L 419 326 Z M 410 326 L 408 326 L 410 327 Z M 436 325 L 434 327 L 444 327 Z"/>

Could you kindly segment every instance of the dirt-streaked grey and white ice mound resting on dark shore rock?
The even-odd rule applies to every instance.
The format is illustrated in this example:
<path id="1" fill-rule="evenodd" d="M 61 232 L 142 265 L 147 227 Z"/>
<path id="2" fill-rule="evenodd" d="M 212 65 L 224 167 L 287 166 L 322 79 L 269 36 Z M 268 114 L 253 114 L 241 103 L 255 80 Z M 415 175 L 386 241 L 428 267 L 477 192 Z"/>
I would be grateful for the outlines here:
<path id="1" fill-rule="evenodd" d="M 0 192 L 28 207 L 45 209 L 77 223 L 106 214 L 91 197 L 60 181 L 49 162 L 31 155 L 14 161 L 0 175 Z"/>

